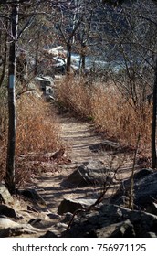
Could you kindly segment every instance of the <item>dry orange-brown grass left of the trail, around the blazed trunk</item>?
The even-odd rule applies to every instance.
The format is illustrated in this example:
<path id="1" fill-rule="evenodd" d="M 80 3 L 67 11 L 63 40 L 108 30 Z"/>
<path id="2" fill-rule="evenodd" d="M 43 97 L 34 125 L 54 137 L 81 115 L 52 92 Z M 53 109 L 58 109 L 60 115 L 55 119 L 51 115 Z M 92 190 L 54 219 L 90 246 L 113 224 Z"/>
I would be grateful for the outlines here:
<path id="1" fill-rule="evenodd" d="M 22 95 L 16 101 L 16 117 L 16 184 L 19 186 L 39 170 L 39 166 L 28 163 L 27 155 L 55 152 L 62 145 L 57 116 L 52 106 L 40 98 Z M 5 177 L 6 140 L 5 132 L 0 141 L 0 181 Z"/>

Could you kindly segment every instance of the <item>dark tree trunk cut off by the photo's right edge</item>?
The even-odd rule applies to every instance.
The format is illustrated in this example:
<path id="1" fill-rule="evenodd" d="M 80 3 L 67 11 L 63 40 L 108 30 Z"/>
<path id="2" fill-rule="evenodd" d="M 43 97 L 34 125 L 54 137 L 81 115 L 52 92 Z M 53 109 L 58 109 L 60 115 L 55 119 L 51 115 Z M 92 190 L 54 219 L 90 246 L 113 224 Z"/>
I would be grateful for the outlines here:
<path id="1" fill-rule="evenodd" d="M 157 113 L 157 59 L 155 64 L 155 76 L 153 83 L 153 104 L 152 104 L 152 168 L 157 167 L 156 156 L 156 113 Z"/>

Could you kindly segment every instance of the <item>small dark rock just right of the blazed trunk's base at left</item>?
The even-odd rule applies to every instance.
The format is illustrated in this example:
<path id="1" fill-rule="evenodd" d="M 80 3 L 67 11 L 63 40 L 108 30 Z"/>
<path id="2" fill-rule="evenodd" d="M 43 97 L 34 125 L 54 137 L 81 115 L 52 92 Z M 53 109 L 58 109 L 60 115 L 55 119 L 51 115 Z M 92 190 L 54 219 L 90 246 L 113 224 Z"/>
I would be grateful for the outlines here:
<path id="1" fill-rule="evenodd" d="M 28 188 L 28 189 L 21 189 L 21 190 L 18 190 L 18 193 L 24 197 L 27 197 L 31 200 L 33 200 L 34 202 L 36 203 L 39 203 L 43 206 L 46 206 L 46 201 L 44 200 L 43 197 L 41 197 L 37 191 L 35 189 L 32 189 L 32 188 Z"/>

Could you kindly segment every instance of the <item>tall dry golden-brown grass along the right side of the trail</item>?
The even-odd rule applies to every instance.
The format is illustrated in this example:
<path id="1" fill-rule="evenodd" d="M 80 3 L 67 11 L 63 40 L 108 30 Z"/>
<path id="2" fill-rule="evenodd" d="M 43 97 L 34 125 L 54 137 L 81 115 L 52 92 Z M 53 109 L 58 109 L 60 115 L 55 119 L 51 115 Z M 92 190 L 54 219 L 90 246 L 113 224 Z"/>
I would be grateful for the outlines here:
<path id="1" fill-rule="evenodd" d="M 135 108 L 112 84 L 86 84 L 68 78 L 58 84 L 58 104 L 80 117 L 92 120 L 98 130 L 122 144 L 135 145 L 141 134 L 141 148 L 150 146 L 152 106 Z"/>

